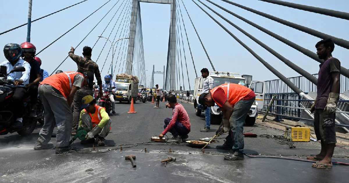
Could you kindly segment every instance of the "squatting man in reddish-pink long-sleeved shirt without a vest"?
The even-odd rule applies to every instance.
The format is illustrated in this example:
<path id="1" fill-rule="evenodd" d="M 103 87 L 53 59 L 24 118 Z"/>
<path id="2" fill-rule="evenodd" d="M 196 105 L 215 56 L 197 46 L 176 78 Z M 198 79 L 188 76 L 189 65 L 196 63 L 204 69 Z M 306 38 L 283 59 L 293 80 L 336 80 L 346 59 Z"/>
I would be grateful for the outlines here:
<path id="1" fill-rule="evenodd" d="M 169 142 L 182 143 L 184 139 L 188 138 L 190 132 L 190 120 L 188 113 L 181 104 L 177 103 L 177 98 L 174 95 L 170 95 L 167 100 L 166 108 L 172 108 L 172 118 L 166 118 L 164 120 L 164 131 L 159 135 L 162 139 L 167 132 L 171 132 L 173 135 Z"/>

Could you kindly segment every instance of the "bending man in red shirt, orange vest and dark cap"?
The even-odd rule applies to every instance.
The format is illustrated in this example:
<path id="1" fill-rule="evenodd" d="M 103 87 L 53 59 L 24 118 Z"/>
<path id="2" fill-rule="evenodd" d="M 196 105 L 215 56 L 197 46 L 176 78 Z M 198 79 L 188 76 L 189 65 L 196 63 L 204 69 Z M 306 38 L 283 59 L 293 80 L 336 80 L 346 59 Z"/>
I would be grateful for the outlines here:
<path id="1" fill-rule="evenodd" d="M 216 103 L 222 110 L 222 124 L 216 135 L 229 132 L 227 141 L 221 146 L 224 149 L 232 148 L 232 152 L 224 156 L 226 160 L 244 159 L 244 123 L 255 96 L 251 89 L 243 85 L 228 83 L 217 86 L 208 93 L 202 93 L 199 97 L 201 105 L 214 106 Z"/>

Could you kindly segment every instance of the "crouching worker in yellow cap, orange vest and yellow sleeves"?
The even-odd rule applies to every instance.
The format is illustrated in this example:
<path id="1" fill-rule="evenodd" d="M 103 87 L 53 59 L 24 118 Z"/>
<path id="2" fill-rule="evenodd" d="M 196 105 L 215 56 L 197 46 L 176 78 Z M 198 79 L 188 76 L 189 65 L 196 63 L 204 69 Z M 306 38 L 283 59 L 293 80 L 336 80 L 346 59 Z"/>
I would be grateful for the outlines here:
<path id="1" fill-rule="evenodd" d="M 87 107 L 81 110 L 78 129 L 85 129 L 88 133 L 86 140 L 82 140 L 81 143 L 94 143 L 95 138 L 97 138 L 99 146 L 105 145 L 104 138 L 111 129 L 108 113 L 105 112 L 104 107 L 96 105 L 96 99 L 90 95 L 82 98 L 82 104 L 87 105 Z"/>

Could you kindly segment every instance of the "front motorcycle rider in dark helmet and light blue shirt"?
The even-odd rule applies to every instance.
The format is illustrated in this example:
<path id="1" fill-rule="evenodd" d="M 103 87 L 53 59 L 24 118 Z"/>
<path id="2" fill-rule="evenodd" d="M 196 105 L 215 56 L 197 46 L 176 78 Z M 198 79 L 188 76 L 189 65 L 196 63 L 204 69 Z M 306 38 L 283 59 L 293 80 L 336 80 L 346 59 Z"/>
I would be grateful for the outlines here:
<path id="1" fill-rule="evenodd" d="M 26 85 L 29 84 L 29 75 L 30 75 L 30 64 L 21 59 L 22 48 L 20 45 L 15 43 L 6 44 L 3 48 L 3 54 L 8 61 L 2 62 L 1 66 L 6 66 L 6 72 L 9 73 L 15 67 L 24 67 L 25 71 L 23 72 L 14 72 L 7 76 L 8 80 L 14 80 L 14 85 Z M 13 98 L 13 109 L 14 117 L 16 121 L 11 125 L 12 129 L 20 129 L 23 127 L 23 98 L 27 93 L 27 89 L 24 87 L 17 87 L 14 89 Z"/>

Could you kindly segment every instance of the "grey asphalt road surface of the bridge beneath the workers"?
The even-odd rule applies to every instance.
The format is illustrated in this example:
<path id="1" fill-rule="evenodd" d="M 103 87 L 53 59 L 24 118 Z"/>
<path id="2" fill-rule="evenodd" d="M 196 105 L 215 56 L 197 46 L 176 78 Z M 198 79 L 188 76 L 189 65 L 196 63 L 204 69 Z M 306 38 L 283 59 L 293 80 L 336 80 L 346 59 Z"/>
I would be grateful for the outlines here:
<path id="1" fill-rule="evenodd" d="M 191 104 L 183 103 L 191 119 L 189 139 L 212 137 L 218 125 L 211 126 L 211 132 L 200 132 L 204 117 L 195 116 Z M 164 107 L 153 108 L 147 102 L 135 104 L 136 114 L 128 114 L 129 105 L 116 105 L 117 115 L 111 117 L 112 130 L 106 137 L 106 147 L 95 149 L 91 145 L 73 143 L 77 152 L 57 155 L 54 150 L 34 151 L 32 148 L 40 127 L 28 137 L 17 134 L 0 136 L 0 182 L 348 182 L 348 166 L 334 165 L 332 169 L 315 169 L 311 162 L 247 158 L 242 161 L 223 160 L 228 151 L 216 150 L 213 143 L 205 154 L 200 149 L 182 145 L 148 143 L 152 136 L 163 130 L 163 120 L 172 111 Z M 257 135 L 280 135 L 283 132 L 262 125 L 245 127 L 245 131 Z M 170 134 L 168 134 L 171 137 Z M 300 157 L 319 152 L 317 142 L 295 143 L 296 148 L 278 144 L 268 138 L 245 138 L 245 152 L 248 154 L 282 155 Z M 52 138 L 55 142 L 55 138 Z M 120 146 L 122 144 L 122 150 Z M 145 151 L 147 148 L 147 151 Z M 171 152 L 169 152 L 171 148 Z M 347 147 L 348 148 L 348 147 Z M 114 150 L 113 150 L 114 149 Z M 109 151 L 112 150 L 112 151 Z M 137 167 L 132 168 L 125 155 L 136 155 Z M 297 157 L 298 156 L 298 157 Z M 161 159 L 177 158 L 166 167 Z M 334 161 L 349 162 L 348 149 L 336 147 Z"/>

